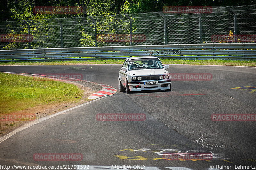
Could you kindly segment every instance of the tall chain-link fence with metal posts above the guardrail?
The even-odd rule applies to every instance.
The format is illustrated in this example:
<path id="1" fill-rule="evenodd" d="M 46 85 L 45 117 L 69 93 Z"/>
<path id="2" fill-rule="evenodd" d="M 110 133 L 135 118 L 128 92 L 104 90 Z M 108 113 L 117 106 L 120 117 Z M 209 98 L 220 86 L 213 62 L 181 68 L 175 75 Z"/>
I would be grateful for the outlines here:
<path id="1" fill-rule="evenodd" d="M 0 49 L 254 43 L 256 5 L 0 22 L 0 36 Z"/>

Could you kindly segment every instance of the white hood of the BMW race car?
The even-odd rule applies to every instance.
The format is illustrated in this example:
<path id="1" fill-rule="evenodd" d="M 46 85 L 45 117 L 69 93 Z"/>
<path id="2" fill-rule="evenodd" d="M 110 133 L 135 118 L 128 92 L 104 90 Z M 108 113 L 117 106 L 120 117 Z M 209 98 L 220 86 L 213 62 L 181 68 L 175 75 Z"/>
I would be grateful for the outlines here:
<path id="1" fill-rule="evenodd" d="M 168 71 L 164 69 L 141 69 L 141 70 L 131 70 L 131 71 L 128 71 L 128 73 L 130 73 L 132 76 L 149 76 L 149 75 L 168 74 Z"/>

